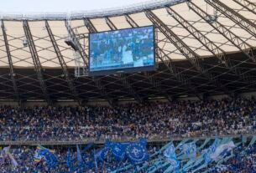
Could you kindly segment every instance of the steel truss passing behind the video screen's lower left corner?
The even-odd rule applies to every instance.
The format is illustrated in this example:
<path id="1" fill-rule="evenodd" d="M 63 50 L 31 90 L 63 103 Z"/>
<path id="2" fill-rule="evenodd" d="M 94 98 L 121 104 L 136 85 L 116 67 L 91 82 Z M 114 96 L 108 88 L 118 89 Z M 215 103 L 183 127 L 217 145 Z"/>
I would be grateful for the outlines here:
<path id="1" fill-rule="evenodd" d="M 76 33 L 73 31 L 71 26 L 66 23 L 65 27 L 67 28 L 68 33 L 71 35 L 71 38 L 75 41 L 76 46 L 78 47 L 78 53 L 81 55 L 81 58 L 83 59 L 84 64 L 86 64 L 86 69 L 89 69 L 89 64 L 88 64 L 89 56 L 88 56 L 88 54 L 86 53 L 84 48 L 82 48 L 81 43 L 76 38 Z M 106 89 L 102 86 L 101 80 L 97 77 L 91 78 L 91 79 L 94 82 L 94 84 L 96 85 L 97 89 L 100 90 L 100 93 L 107 99 L 108 104 L 110 104 L 112 107 L 114 107 L 113 99 L 111 99 L 108 96 L 108 94 L 106 92 Z"/>

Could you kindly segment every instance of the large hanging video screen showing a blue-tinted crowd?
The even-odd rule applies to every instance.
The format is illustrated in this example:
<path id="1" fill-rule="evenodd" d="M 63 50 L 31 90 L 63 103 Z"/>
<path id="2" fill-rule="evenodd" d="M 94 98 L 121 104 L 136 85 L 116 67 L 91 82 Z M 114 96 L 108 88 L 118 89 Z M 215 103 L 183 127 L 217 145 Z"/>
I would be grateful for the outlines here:
<path id="1" fill-rule="evenodd" d="M 91 33 L 89 74 L 154 70 L 154 26 Z"/>

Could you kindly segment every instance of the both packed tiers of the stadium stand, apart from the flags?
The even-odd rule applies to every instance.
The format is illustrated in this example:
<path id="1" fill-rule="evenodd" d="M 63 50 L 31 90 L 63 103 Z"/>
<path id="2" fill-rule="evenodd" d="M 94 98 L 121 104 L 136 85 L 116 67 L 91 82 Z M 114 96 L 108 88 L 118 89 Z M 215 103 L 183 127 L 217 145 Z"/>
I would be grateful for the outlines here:
<path id="1" fill-rule="evenodd" d="M 197 155 L 204 155 L 202 150 L 210 141 L 206 139 L 207 136 L 242 136 L 242 134 L 251 136 L 255 134 L 256 130 L 255 100 L 242 98 L 173 103 L 153 102 L 144 105 L 125 104 L 115 108 L 107 106 L 81 108 L 39 106 L 12 108 L 3 106 L 0 109 L 0 114 L 0 139 L 2 142 L 15 145 L 12 153 L 18 163 L 21 164 L 16 167 L 13 166 L 11 160 L 3 159 L 1 164 L 3 172 L 66 172 L 71 171 L 71 169 L 75 170 L 74 172 L 115 172 L 118 169 L 121 169 L 118 170 L 119 172 L 130 172 L 134 167 L 127 168 L 128 159 L 115 160 L 109 154 L 107 165 L 104 165 L 104 162 L 101 165 L 102 159 L 97 158 L 99 165 L 96 167 L 95 149 L 81 152 L 81 155 L 85 157 L 84 165 L 76 163 L 77 161 L 74 159 L 78 155 L 76 150 L 71 156 L 72 160 L 75 160 L 71 168 L 66 164 L 67 153 L 69 152 L 67 150 L 70 150 L 67 148 L 74 146 L 74 144 L 82 144 L 86 140 L 104 143 L 105 140 L 134 141 L 141 138 L 145 138 L 149 142 L 158 141 L 160 144 L 148 146 L 149 155 L 154 155 L 149 159 L 151 165 L 138 164 L 138 172 L 144 172 L 144 167 L 148 169 L 145 172 L 165 172 L 166 165 L 158 165 L 158 162 L 155 161 L 160 158 L 159 148 L 165 143 L 163 141 L 175 140 L 181 136 L 194 139 L 201 137 L 205 141 L 198 143 L 201 145 L 198 145 L 196 153 Z M 227 138 L 225 141 L 224 139 L 225 137 L 223 137 L 222 143 L 226 144 L 232 138 Z M 252 143 L 247 144 L 248 147 L 245 147 L 242 142 L 238 142 L 235 150 L 228 150 L 227 154 L 224 155 L 227 160 L 223 158 L 221 164 L 212 163 L 203 169 L 207 170 L 208 168 L 209 172 L 221 172 L 221 170 L 253 172 L 255 170 L 255 160 L 253 159 L 255 158 L 255 140 L 256 136 L 251 139 Z M 60 145 L 60 141 L 64 142 L 63 146 L 51 146 L 56 149 L 55 155 L 58 157 L 58 165 L 50 167 L 49 163 L 44 160 L 34 163 L 35 148 L 24 145 L 26 142 L 28 142 L 27 144 L 29 142 L 35 144 L 33 141 L 51 141 L 52 145 Z M 69 142 L 73 145 L 67 146 Z M 17 145 L 21 147 L 18 148 Z M 176 147 L 178 146 L 176 145 Z M 95 147 L 99 146 L 96 145 Z M 88 156 L 93 154 L 94 156 Z M 177 156 L 183 165 L 188 161 L 179 152 Z M 3 158 L 5 157 L 3 155 Z M 91 158 L 94 160 L 88 161 Z M 197 160 L 199 159 L 197 158 Z M 152 170 L 153 165 L 156 165 L 156 168 Z M 140 167 L 143 168 L 139 170 Z M 180 171 L 190 172 L 192 168 Z"/>

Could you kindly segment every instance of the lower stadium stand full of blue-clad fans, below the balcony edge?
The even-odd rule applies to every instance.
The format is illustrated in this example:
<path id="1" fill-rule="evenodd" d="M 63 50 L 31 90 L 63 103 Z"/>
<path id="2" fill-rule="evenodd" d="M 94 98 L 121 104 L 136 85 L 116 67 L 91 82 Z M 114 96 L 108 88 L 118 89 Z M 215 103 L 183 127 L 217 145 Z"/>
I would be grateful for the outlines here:
<path id="1" fill-rule="evenodd" d="M 254 136 L 255 138 L 256 136 Z M 240 141 L 236 144 L 236 147 L 233 150 L 227 151 L 225 155 L 222 155 L 222 158 L 219 160 L 211 160 L 208 165 L 199 169 L 199 172 L 255 172 L 255 141 L 253 144 L 249 144 L 252 138 L 248 138 L 248 141 L 242 145 L 241 139 L 239 138 L 231 138 L 230 140 Z M 222 138 L 224 140 L 224 138 Z M 206 143 L 211 143 L 212 140 L 194 140 L 196 142 L 196 159 L 198 163 L 202 162 L 203 165 L 204 160 L 201 160 L 200 155 L 204 155 L 203 149 L 206 149 L 206 146 L 203 146 Z M 210 141 L 210 142 L 209 142 Z M 176 141 L 177 142 L 177 141 Z M 180 143 L 185 140 L 180 141 Z M 212 141 L 213 142 L 213 141 Z M 180 153 L 177 151 L 180 143 L 176 145 L 176 153 Z M 167 144 L 169 145 L 169 144 Z M 162 147 L 161 147 L 162 146 Z M 203 147 L 199 147 L 203 146 Z M 52 146 L 53 147 L 53 146 Z M 85 146 L 85 148 L 87 145 Z M 35 160 L 34 154 L 38 147 L 33 146 L 13 146 L 10 150 L 13 153 L 13 157 L 18 162 L 18 166 L 13 166 L 12 161 L 7 158 L 1 161 L 1 172 L 3 173 L 16 173 L 16 172 L 165 172 L 166 168 L 170 166 L 169 164 L 163 164 L 161 162 L 166 162 L 163 158 L 162 153 L 163 150 L 166 150 L 166 145 L 149 145 L 148 153 L 149 160 L 138 163 L 137 165 L 131 165 L 128 159 L 124 160 L 116 160 L 111 154 L 107 154 L 105 160 L 102 160 L 101 156 L 93 156 L 97 149 L 89 149 L 81 151 L 81 158 L 83 159 L 83 164 L 80 165 L 77 158 L 77 153 L 80 151 L 76 150 L 74 146 L 66 146 L 60 145 L 55 146 L 55 155 L 58 158 L 58 164 L 55 166 L 50 166 L 50 163 L 42 160 Z M 92 153 L 92 154 L 91 154 Z M 88 156 L 90 155 L 90 156 Z M 179 155 L 179 154 L 177 154 Z M 68 165 L 69 159 L 71 160 L 72 166 Z M 194 170 L 198 169 L 198 166 L 191 165 L 191 168 L 185 168 L 191 160 L 180 160 L 180 168 L 178 168 L 179 172 L 195 172 Z M 170 172 L 172 172 L 171 170 Z"/>

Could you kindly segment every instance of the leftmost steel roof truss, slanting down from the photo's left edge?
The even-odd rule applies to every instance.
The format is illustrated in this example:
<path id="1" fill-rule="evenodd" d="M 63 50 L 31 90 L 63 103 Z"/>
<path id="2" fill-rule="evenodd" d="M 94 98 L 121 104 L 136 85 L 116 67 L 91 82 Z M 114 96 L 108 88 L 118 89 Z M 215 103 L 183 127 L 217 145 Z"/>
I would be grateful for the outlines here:
<path id="1" fill-rule="evenodd" d="M 13 90 L 16 96 L 16 100 L 18 101 L 18 104 L 20 104 L 20 96 L 18 94 L 18 88 L 17 88 L 17 84 L 16 84 L 16 80 L 15 80 L 15 73 L 14 73 L 14 68 L 13 68 L 13 59 L 12 59 L 12 55 L 10 52 L 10 48 L 9 48 L 9 44 L 8 44 L 8 38 L 7 38 L 7 34 L 6 34 L 6 28 L 4 27 L 4 23 L 3 20 L 1 21 L 1 27 L 2 27 L 2 32 L 3 32 L 3 40 L 4 40 L 4 44 L 5 44 L 5 48 L 6 48 L 6 53 L 7 53 L 7 57 L 8 57 L 8 64 L 9 64 L 9 69 L 10 69 L 10 77 L 13 83 Z"/>

